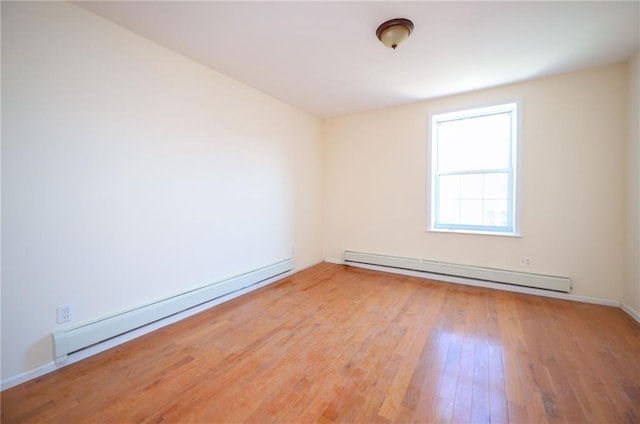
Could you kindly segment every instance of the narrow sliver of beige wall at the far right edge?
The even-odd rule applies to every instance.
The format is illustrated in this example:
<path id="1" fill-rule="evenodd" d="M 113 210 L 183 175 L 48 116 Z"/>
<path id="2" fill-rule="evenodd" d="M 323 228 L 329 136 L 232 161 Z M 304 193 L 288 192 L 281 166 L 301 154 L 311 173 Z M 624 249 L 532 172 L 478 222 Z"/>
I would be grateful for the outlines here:
<path id="1" fill-rule="evenodd" d="M 640 52 L 629 61 L 627 276 L 624 303 L 640 316 Z"/>

